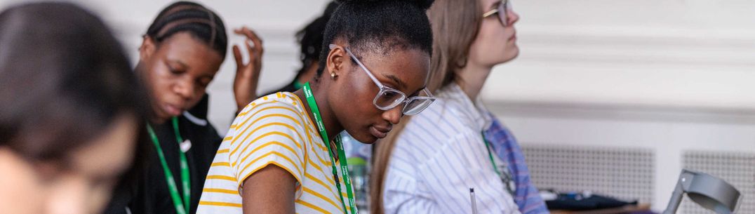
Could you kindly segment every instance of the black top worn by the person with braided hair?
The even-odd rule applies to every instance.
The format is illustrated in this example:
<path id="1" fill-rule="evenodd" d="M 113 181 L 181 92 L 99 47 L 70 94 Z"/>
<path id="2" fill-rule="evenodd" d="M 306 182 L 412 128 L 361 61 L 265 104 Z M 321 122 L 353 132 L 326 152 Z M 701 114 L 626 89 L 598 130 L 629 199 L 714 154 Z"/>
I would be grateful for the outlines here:
<path id="1" fill-rule="evenodd" d="M 193 115 L 206 121 L 207 105 L 208 97 L 205 96 L 194 107 L 195 109 L 190 110 L 190 113 L 196 113 Z M 202 123 L 198 124 L 195 123 L 196 119 L 193 120 L 194 122 L 184 115 L 179 116 L 178 119 L 181 137 L 184 140 L 190 140 L 192 143 L 191 148 L 186 152 L 191 179 L 191 210 L 189 213 L 196 212 L 199 197 L 202 195 L 202 187 L 205 185 L 205 177 L 217 153 L 217 148 L 220 147 L 220 142 L 223 140 L 220 135 L 217 135 L 217 131 L 211 124 L 205 123 L 205 126 L 202 126 Z M 168 120 L 166 123 L 153 124 L 152 126 L 160 141 L 168 168 L 171 169 L 176 185 L 179 187 L 179 194 L 183 197 L 183 189 L 180 188 L 180 148 L 173 130 L 173 123 Z M 142 156 L 148 158 L 145 168 L 140 170 L 141 172 L 137 172 L 136 180 L 122 181 L 122 184 L 116 187 L 105 213 L 125 214 L 127 207 L 134 214 L 177 213 L 154 144 L 151 138 L 147 138 L 146 142 L 143 141 L 139 143 L 149 144 L 149 147 L 152 148 L 149 150 L 149 155 Z"/>

